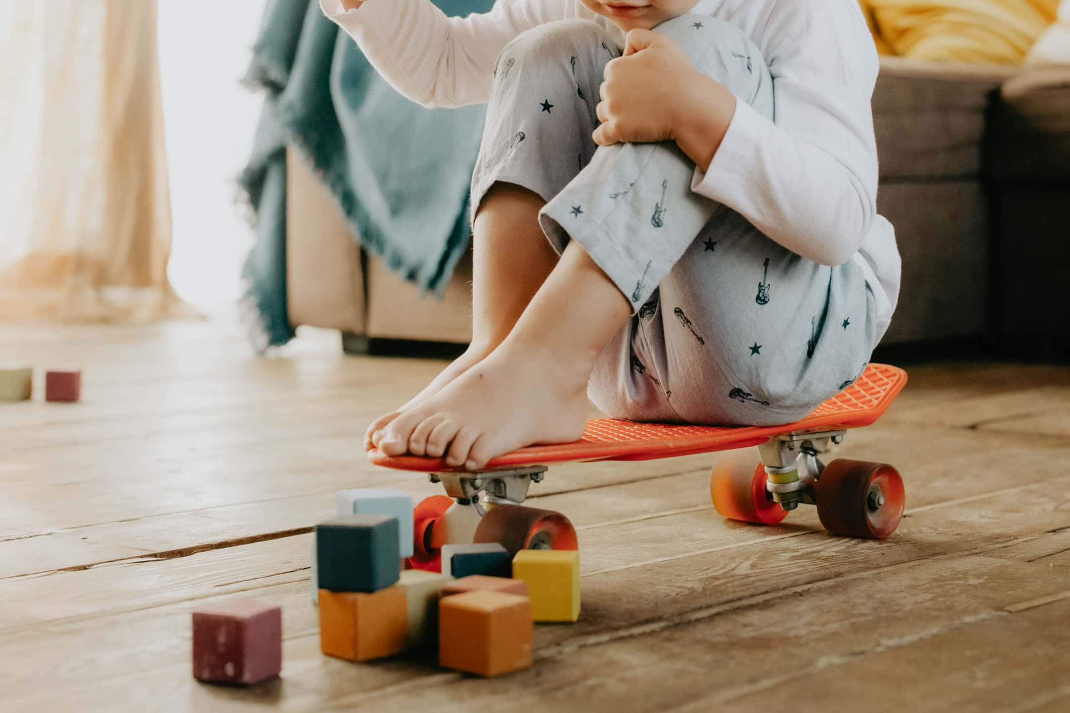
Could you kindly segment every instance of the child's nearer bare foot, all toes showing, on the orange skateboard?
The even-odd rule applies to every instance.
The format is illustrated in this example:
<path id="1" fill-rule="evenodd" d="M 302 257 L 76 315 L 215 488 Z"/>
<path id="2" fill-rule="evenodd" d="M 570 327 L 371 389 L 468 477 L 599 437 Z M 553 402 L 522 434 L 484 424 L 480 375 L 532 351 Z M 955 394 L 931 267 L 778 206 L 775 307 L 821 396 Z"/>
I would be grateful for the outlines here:
<path id="1" fill-rule="evenodd" d="M 474 470 L 523 446 L 583 435 L 590 369 L 563 368 L 539 348 L 509 342 L 392 420 L 376 438 L 379 450 L 447 453 L 447 465 Z"/>

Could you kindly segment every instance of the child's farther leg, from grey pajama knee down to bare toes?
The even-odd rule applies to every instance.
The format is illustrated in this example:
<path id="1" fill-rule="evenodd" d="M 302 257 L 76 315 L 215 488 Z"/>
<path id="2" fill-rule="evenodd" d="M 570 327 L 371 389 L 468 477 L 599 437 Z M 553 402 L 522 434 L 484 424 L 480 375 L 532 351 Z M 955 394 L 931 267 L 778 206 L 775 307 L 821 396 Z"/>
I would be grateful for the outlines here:
<path id="1" fill-rule="evenodd" d="M 581 31 L 574 32 L 576 27 Z M 606 63 L 617 53 L 603 45 L 612 47 L 612 42 L 597 26 L 572 20 L 525 32 L 502 51 L 472 176 L 472 343 L 406 405 L 376 419 L 365 447 L 376 445 L 377 432 L 402 410 L 434 396 L 490 354 L 556 264 L 557 252 L 539 228 L 538 212 L 597 149 L 591 135 L 597 125 L 598 84 Z M 544 107 L 541 102 L 551 96 L 556 104 Z M 416 455 L 424 454 L 424 435 L 411 443 Z"/>

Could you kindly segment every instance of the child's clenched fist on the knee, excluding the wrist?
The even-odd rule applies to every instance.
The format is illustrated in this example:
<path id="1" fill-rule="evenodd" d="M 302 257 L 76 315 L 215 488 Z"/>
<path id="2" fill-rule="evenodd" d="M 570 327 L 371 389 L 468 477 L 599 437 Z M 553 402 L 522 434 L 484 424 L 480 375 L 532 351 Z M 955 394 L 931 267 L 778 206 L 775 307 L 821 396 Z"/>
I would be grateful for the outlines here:
<path id="1" fill-rule="evenodd" d="M 595 110 L 601 124 L 593 135 L 602 146 L 674 139 L 677 117 L 702 88 L 702 75 L 676 43 L 642 29 L 628 32 L 624 56 L 609 61 L 605 77 Z"/>

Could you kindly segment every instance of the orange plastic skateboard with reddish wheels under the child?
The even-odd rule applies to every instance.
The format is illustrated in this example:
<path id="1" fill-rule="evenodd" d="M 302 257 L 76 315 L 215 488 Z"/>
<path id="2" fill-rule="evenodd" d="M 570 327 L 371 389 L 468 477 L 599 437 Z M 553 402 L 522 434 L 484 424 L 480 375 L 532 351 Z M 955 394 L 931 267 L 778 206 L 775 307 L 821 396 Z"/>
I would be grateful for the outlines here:
<path id="1" fill-rule="evenodd" d="M 370 451 L 376 465 L 429 472 L 446 496 L 432 496 L 414 512 L 411 565 L 438 569 L 443 544 L 500 542 L 510 553 L 525 547 L 575 549 L 576 531 L 561 513 L 525 508 L 529 485 L 551 463 L 644 461 L 737 450 L 718 459 L 710 478 L 714 507 L 725 517 L 774 525 L 799 503 L 815 505 L 829 531 L 860 538 L 889 537 L 903 514 L 903 481 L 890 465 L 817 458 L 843 440 L 847 429 L 876 421 L 906 385 L 906 372 L 871 363 L 849 388 L 795 423 L 769 427 L 702 427 L 587 421 L 570 444 L 529 446 L 492 459 L 478 472 L 450 468 L 442 459 L 387 456 Z M 750 394 L 740 393 L 745 399 Z M 484 502 L 494 507 L 483 507 Z"/>

